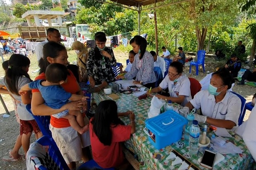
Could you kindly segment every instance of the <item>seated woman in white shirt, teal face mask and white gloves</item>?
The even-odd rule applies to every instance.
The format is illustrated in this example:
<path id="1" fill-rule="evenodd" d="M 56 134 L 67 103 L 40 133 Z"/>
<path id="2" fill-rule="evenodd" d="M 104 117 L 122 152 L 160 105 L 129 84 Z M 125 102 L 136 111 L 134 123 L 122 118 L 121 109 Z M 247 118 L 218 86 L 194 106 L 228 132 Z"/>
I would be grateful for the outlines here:
<path id="1" fill-rule="evenodd" d="M 226 129 L 238 125 L 241 100 L 228 91 L 232 82 L 232 76 L 225 68 L 212 74 L 209 89 L 199 91 L 186 105 L 189 109 L 201 107 L 203 115 L 194 114 L 195 120 Z"/>

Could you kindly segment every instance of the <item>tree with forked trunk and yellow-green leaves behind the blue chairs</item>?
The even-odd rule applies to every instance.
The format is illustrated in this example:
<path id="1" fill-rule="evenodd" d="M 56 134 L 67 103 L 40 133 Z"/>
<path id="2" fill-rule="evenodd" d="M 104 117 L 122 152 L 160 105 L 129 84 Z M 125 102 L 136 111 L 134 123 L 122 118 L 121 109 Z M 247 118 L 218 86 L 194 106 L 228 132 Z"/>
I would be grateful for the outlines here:
<path id="1" fill-rule="evenodd" d="M 231 25 L 238 12 L 238 0 L 191 0 L 161 8 L 159 16 L 166 21 L 179 21 L 178 29 L 194 29 L 197 50 L 204 49 L 207 30 L 215 23 Z M 169 0 L 165 1 L 170 2 Z M 171 16 L 171 18 L 170 18 Z M 184 30 L 184 31 L 185 31 Z M 183 36 L 183 35 L 182 35 Z M 183 38 L 184 39 L 184 38 Z M 183 44 L 180 44 L 183 45 Z"/>

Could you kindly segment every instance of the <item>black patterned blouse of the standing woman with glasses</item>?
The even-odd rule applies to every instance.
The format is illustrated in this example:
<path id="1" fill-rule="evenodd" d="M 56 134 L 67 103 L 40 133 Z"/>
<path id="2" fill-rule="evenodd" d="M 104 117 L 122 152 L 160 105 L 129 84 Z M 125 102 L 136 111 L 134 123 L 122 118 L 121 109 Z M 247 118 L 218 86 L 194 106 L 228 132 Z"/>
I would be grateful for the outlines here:
<path id="1" fill-rule="evenodd" d="M 112 59 L 100 54 L 97 47 L 92 48 L 89 51 L 89 57 L 86 63 L 87 75 L 88 77 L 93 77 L 95 80 L 95 85 L 102 84 L 102 81 L 110 83 L 115 80 L 115 75 L 111 68 L 111 66 L 116 67 L 116 58 L 114 56 L 114 52 L 112 49 L 107 47 L 104 49 L 104 51 L 107 51 L 112 56 Z"/>

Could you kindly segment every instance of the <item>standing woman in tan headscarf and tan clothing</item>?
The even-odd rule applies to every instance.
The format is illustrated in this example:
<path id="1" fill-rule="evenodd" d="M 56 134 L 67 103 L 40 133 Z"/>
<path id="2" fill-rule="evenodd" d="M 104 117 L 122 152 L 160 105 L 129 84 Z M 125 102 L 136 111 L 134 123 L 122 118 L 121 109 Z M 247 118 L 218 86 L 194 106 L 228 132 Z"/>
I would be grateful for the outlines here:
<path id="1" fill-rule="evenodd" d="M 86 63 L 89 57 L 89 51 L 84 46 L 84 44 L 80 41 L 73 42 L 71 48 L 75 50 L 77 55 L 77 66 L 79 68 L 80 75 L 82 77 L 82 82 L 87 82 L 88 76 L 87 76 L 87 70 L 86 70 Z"/>

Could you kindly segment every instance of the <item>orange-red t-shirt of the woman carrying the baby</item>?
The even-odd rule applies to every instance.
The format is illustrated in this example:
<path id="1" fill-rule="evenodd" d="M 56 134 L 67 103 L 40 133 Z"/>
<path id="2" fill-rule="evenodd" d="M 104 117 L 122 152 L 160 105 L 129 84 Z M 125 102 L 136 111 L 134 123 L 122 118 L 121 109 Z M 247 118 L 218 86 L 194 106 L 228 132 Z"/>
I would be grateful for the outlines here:
<path id="1" fill-rule="evenodd" d="M 66 92 L 69 92 L 71 94 L 76 94 L 77 92 L 80 91 L 80 86 L 76 82 L 76 77 L 73 75 L 73 72 L 69 70 L 69 74 L 70 75 L 68 75 L 68 82 L 62 84 L 61 86 L 64 88 Z M 39 80 L 39 79 L 45 79 L 44 72 L 35 78 L 35 80 Z M 32 93 L 35 93 L 35 92 L 40 92 L 40 91 L 38 89 L 33 89 Z M 64 119 L 64 118 L 58 119 L 53 117 L 52 115 L 51 115 L 50 123 L 55 128 L 67 128 L 70 126 L 68 119 Z"/>

